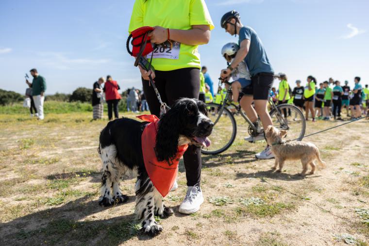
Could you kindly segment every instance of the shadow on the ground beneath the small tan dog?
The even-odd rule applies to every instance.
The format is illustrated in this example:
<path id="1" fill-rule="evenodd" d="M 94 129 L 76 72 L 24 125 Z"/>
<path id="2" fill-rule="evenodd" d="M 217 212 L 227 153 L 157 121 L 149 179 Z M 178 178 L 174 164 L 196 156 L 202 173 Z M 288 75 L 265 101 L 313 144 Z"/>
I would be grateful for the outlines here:
<path id="1" fill-rule="evenodd" d="M 319 177 L 319 175 L 306 175 L 301 176 L 298 173 L 291 174 L 291 173 L 285 173 L 285 172 L 276 172 L 273 169 L 269 169 L 268 171 L 258 171 L 254 173 L 237 173 L 235 179 L 240 178 L 270 178 L 270 179 L 279 179 L 279 180 L 285 180 L 285 181 L 296 181 L 296 180 L 302 180 L 305 178 L 315 178 Z"/>

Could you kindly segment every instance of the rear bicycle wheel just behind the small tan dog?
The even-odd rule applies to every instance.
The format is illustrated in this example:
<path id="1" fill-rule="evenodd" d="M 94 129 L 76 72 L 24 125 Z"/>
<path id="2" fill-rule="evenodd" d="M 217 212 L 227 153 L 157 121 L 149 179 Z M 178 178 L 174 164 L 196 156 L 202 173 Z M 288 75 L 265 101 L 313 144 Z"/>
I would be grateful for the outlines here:
<path id="1" fill-rule="evenodd" d="M 306 129 L 302 111 L 290 104 L 277 105 L 276 109 L 273 108 L 269 113 L 273 125 L 279 130 L 286 130 L 287 139 L 301 141 Z"/>

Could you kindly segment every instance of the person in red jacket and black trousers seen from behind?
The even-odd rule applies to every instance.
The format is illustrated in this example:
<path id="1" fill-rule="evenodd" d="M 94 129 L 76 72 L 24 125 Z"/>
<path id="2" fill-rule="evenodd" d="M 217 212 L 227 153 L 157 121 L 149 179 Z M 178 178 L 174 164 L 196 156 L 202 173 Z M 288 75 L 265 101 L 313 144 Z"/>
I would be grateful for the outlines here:
<path id="1" fill-rule="evenodd" d="M 112 76 L 110 75 L 106 76 L 106 82 L 105 82 L 105 86 L 103 90 L 105 92 L 106 103 L 108 104 L 109 121 L 113 119 L 113 112 L 112 112 L 113 108 L 114 108 L 115 118 L 116 119 L 119 118 L 118 103 L 121 97 L 119 95 L 118 89 L 120 88 L 119 88 L 117 81 L 113 80 Z"/>

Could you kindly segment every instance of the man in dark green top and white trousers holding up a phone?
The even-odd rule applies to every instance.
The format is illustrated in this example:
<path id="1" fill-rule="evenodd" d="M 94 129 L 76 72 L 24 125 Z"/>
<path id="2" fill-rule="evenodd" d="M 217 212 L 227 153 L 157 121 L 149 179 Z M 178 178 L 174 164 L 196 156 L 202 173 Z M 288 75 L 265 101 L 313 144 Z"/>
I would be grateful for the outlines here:
<path id="1" fill-rule="evenodd" d="M 38 120 L 43 120 L 46 81 L 44 77 L 38 74 L 36 69 L 31 69 L 30 72 L 34 79 L 32 80 L 32 83 L 28 80 L 26 80 L 26 83 L 32 88 L 32 96 L 34 98 L 34 105 L 37 109 Z"/>

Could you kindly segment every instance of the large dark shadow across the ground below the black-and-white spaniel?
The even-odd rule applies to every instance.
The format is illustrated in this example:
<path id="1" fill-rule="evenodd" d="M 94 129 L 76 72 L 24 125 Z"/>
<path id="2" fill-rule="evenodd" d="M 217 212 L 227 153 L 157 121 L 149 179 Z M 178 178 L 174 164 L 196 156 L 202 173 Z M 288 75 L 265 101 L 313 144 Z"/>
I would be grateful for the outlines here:
<path id="1" fill-rule="evenodd" d="M 134 196 L 129 196 L 127 203 L 132 202 Z M 84 196 L 59 207 L 37 211 L 1 223 L 0 245 L 120 245 L 135 236 L 139 240 L 151 238 L 139 232 L 133 212 L 93 219 L 93 214 L 112 208 L 102 208 L 97 200 Z M 81 221 L 89 215 L 91 219 Z"/>

